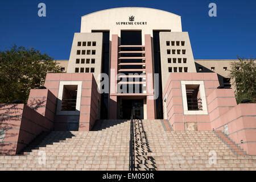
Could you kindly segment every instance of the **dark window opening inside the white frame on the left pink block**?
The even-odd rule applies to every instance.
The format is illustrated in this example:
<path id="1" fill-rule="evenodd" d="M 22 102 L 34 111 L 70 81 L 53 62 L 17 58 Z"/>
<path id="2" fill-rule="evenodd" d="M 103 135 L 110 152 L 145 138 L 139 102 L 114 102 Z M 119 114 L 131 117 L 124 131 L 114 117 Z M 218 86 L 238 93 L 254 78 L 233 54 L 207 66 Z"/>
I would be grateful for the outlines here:
<path id="1" fill-rule="evenodd" d="M 77 85 L 64 85 L 61 100 L 61 110 L 75 111 L 77 99 Z"/>

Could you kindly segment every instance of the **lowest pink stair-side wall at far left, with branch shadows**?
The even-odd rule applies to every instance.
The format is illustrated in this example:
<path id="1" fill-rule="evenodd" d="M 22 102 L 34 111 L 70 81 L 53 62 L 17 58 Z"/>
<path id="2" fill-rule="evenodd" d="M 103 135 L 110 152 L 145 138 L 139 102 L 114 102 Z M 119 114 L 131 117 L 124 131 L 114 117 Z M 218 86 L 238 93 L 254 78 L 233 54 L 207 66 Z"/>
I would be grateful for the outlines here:
<path id="1" fill-rule="evenodd" d="M 42 131 L 50 131 L 53 123 L 24 104 L 1 104 L 0 127 L 5 129 L 1 155 L 18 154 Z"/>

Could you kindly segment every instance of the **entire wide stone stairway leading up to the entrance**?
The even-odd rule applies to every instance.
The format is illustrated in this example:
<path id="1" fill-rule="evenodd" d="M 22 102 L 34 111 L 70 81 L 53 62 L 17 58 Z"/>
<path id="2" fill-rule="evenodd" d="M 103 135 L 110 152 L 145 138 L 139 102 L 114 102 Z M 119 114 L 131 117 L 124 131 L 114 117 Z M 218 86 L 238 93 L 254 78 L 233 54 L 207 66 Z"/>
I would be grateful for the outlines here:
<path id="1" fill-rule="evenodd" d="M 42 134 L 23 155 L 0 156 L 0 170 L 129 170 L 130 125 L 105 120 L 89 132 Z M 139 171 L 256 169 L 256 156 L 237 155 L 213 131 L 172 131 L 163 120 L 134 120 L 134 140 Z"/>

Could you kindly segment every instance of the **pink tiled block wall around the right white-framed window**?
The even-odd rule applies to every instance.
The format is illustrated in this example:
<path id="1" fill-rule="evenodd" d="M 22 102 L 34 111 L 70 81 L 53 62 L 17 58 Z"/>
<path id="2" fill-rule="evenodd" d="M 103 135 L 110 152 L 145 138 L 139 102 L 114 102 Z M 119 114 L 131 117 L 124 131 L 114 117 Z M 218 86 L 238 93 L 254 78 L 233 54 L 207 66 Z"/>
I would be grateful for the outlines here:
<path id="1" fill-rule="evenodd" d="M 204 81 L 205 96 L 219 86 L 216 73 L 170 73 L 163 97 L 168 95 L 166 106 L 168 121 L 174 130 L 185 130 L 186 122 L 196 122 L 198 130 L 210 130 L 210 118 L 207 115 L 185 115 L 183 111 L 183 100 L 181 92 L 181 81 Z M 209 111 L 208 111 L 209 112 Z"/>

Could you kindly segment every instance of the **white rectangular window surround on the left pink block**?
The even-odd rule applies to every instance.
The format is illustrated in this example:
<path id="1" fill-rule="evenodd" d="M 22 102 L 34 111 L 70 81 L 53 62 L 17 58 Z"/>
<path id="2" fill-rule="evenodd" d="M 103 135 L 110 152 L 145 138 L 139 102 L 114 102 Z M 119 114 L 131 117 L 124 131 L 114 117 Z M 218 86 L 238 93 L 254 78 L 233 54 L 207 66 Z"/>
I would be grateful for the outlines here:
<path id="1" fill-rule="evenodd" d="M 62 111 L 61 102 L 63 96 L 64 85 L 77 85 L 77 96 L 76 96 L 76 111 Z M 82 81 L 60 81 L 58 100 L 57 100 L 57 115 L 79 115 L 81 105 L 81 94 L 82 94 Z"/>

